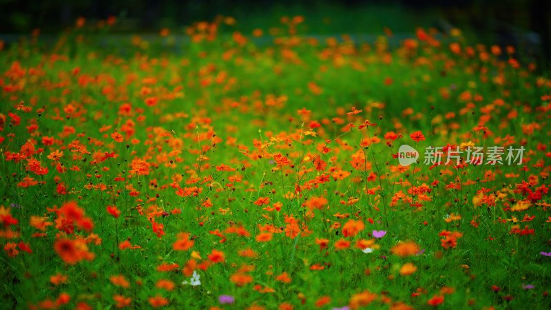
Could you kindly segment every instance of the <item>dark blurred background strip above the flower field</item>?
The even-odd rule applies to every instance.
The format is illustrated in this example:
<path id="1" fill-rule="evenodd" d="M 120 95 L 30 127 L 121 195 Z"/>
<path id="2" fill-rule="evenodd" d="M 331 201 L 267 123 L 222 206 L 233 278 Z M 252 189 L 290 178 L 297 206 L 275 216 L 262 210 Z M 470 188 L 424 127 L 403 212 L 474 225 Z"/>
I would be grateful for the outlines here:
<path id="1" fill-rule="evenodd" d="M 278 25 L 280 17 L 303 16 L 302 34 L 382 34 L 415 32 L 415 28 L 457 27 L 467 37 L 487 45 L 530 43 L 540 60 L 551 56 L 550 1 L 538 0 L 0 0 L 3 18 L 0 34 L 56 34 L 74 25 L 116 17 L 111 32 L 147 33 L 169 28 L 184 33 L 195 21 L 212 21 L 218 15 L 236 19 L 244 34 Z M 444 29 L 443 29 L 444 28 Z M 2 39 L 2 38 L 0 38 Z"/>

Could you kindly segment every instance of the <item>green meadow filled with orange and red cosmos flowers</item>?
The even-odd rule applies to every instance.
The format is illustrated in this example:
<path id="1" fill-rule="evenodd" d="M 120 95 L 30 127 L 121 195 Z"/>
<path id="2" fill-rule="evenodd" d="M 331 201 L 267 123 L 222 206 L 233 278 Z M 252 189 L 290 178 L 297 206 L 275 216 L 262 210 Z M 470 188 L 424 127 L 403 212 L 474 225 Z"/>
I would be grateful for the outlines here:
<path id="1" fill-rule="evenodd" d="M 0 50 L 3 309 L 551 304 L 551 80 L 516 48 L 115 22 Z"/>

